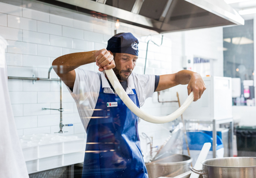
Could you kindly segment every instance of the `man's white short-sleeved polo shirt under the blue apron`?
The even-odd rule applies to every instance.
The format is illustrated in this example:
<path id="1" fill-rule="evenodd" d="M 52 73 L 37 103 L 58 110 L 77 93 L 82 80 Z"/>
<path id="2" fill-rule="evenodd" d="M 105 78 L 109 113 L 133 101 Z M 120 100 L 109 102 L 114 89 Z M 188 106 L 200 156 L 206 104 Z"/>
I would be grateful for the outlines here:
<path id="1" fill-rule="evenodd" d="M 87 125 L 93 115 L 93 110 L 96 106 L 99 91 L 100 81 L 102 81 L 102 88 L 104 93 L 114 93 L 105 77 L 105 71 L 96 73 L 84 69 L 75 69 L 76 79 L 74 83 L 73 92 L 67 86 L 69 92 L 74 98 L 79 116 L 84 125 L 85 131 Z M 144 104 L 146 98 L 152 97 L 154 93 L 155 75 L 141 75 L 132 72 L 127 79 L 127 94 L 133 94 L 132 89 L 136 90 L 140 107 Z"/>

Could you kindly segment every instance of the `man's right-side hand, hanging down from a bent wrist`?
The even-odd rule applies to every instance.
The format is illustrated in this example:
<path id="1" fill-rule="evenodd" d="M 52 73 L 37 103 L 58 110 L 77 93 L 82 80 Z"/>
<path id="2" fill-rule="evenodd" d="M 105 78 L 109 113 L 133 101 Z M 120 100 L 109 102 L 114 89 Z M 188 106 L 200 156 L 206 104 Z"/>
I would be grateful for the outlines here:
<path id="1" fill-rule="evenodd" d="M 199 98 L 201 98 L 202 94 L 206 89 L 206 86 L 201 75 L 198 73 L 194 73 L 191 75 L 191 79 L 188 83 L 187 88 L 188 88 L 188 95 L 191 93 L 191 91 L 193 91 L 194 101 L 197 101 Z"/>

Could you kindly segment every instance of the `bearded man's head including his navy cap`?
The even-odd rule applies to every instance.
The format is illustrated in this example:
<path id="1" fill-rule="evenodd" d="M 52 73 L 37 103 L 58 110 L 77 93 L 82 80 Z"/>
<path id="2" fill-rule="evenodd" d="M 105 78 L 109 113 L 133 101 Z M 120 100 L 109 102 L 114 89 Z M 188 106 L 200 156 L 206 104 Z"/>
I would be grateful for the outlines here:
<path id="1" fill-rule="evenodd" d="M 127 80 L 138 59 L 138 39 L 131 33 L 119 33 L 108 40 L 107 50 L 114 56 L 113 71 L 121 81 Z"/>

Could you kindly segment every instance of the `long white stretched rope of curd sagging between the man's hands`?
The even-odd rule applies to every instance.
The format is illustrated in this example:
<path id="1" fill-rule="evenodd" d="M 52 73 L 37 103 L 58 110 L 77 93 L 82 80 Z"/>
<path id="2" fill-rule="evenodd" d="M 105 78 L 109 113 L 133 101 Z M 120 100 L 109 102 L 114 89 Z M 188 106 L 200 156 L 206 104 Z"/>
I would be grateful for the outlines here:
<path id="1" fill-rule="evenodd" d="M 151 122 L 151 123 L 167 123 L 170 122 L 174 119 L 177 119 L 184 111 L 185 109 L 188 108 L 188 106 L 192 103 L 194 100 L 194 95 L 193 91 L 190 93 L 188 98 L 185 100 L 185 102 L 177 109 L 175 112 L 168 116 L 162 116 L 162 117 L 157 117 L 157 116 L 152 116 L 149 115 L 148 113 L 142 111 L 140 108 L 138 108 L 132 100 L 129 98 L 129 96 L 125 93 L 123 87 L 121 86 L 120 82 L 118 81 L 114 71 L 112 69 L 110 70 L 105 70 L 107 74 L 107 78 L 112 84 L 113 88 L 115 89 L 115 92 L 118 94 L 118 96 L 121 98 L 121 100 L 124 102 L 124 104 L 138 117 L 141 119 Z"/>

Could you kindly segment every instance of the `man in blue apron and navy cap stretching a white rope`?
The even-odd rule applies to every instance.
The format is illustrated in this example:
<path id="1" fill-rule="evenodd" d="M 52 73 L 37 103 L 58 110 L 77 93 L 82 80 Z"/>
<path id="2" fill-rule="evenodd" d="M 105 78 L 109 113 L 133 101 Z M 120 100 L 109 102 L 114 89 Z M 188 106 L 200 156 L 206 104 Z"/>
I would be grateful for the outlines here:
<path id="1" fill-rule="evenodd" d="M 138 117 L 115 94 L 104 70 L 113 69 L 129 98 L 142 106 L 154 91 L 188 84 L 194 101 L 206 89 L 202 77 L 192 71 L 161 76 L 132 73 L 138 60 L 138 39 L 131 33 L 116 34 L 107 49 L 60 56 L 52 63 L 77 103 L 87 132 L 82 178 L 148 178 L 140 148 Z M 101 73 L 77 69 L 96 62 Z"/>

